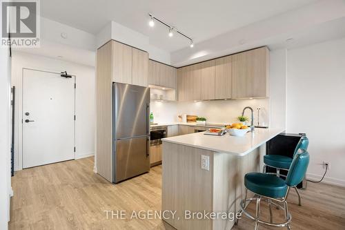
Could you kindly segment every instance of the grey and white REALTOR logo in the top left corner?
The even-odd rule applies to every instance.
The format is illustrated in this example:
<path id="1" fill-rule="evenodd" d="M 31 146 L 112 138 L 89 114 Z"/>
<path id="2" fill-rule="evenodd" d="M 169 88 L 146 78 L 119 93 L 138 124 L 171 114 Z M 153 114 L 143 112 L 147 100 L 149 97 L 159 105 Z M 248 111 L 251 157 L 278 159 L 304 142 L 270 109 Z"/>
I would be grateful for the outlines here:
<path id="1" fill-rule="evenodd" d="M 39 47 L 39 0 L 1 1 L 1 46 Z"/>

